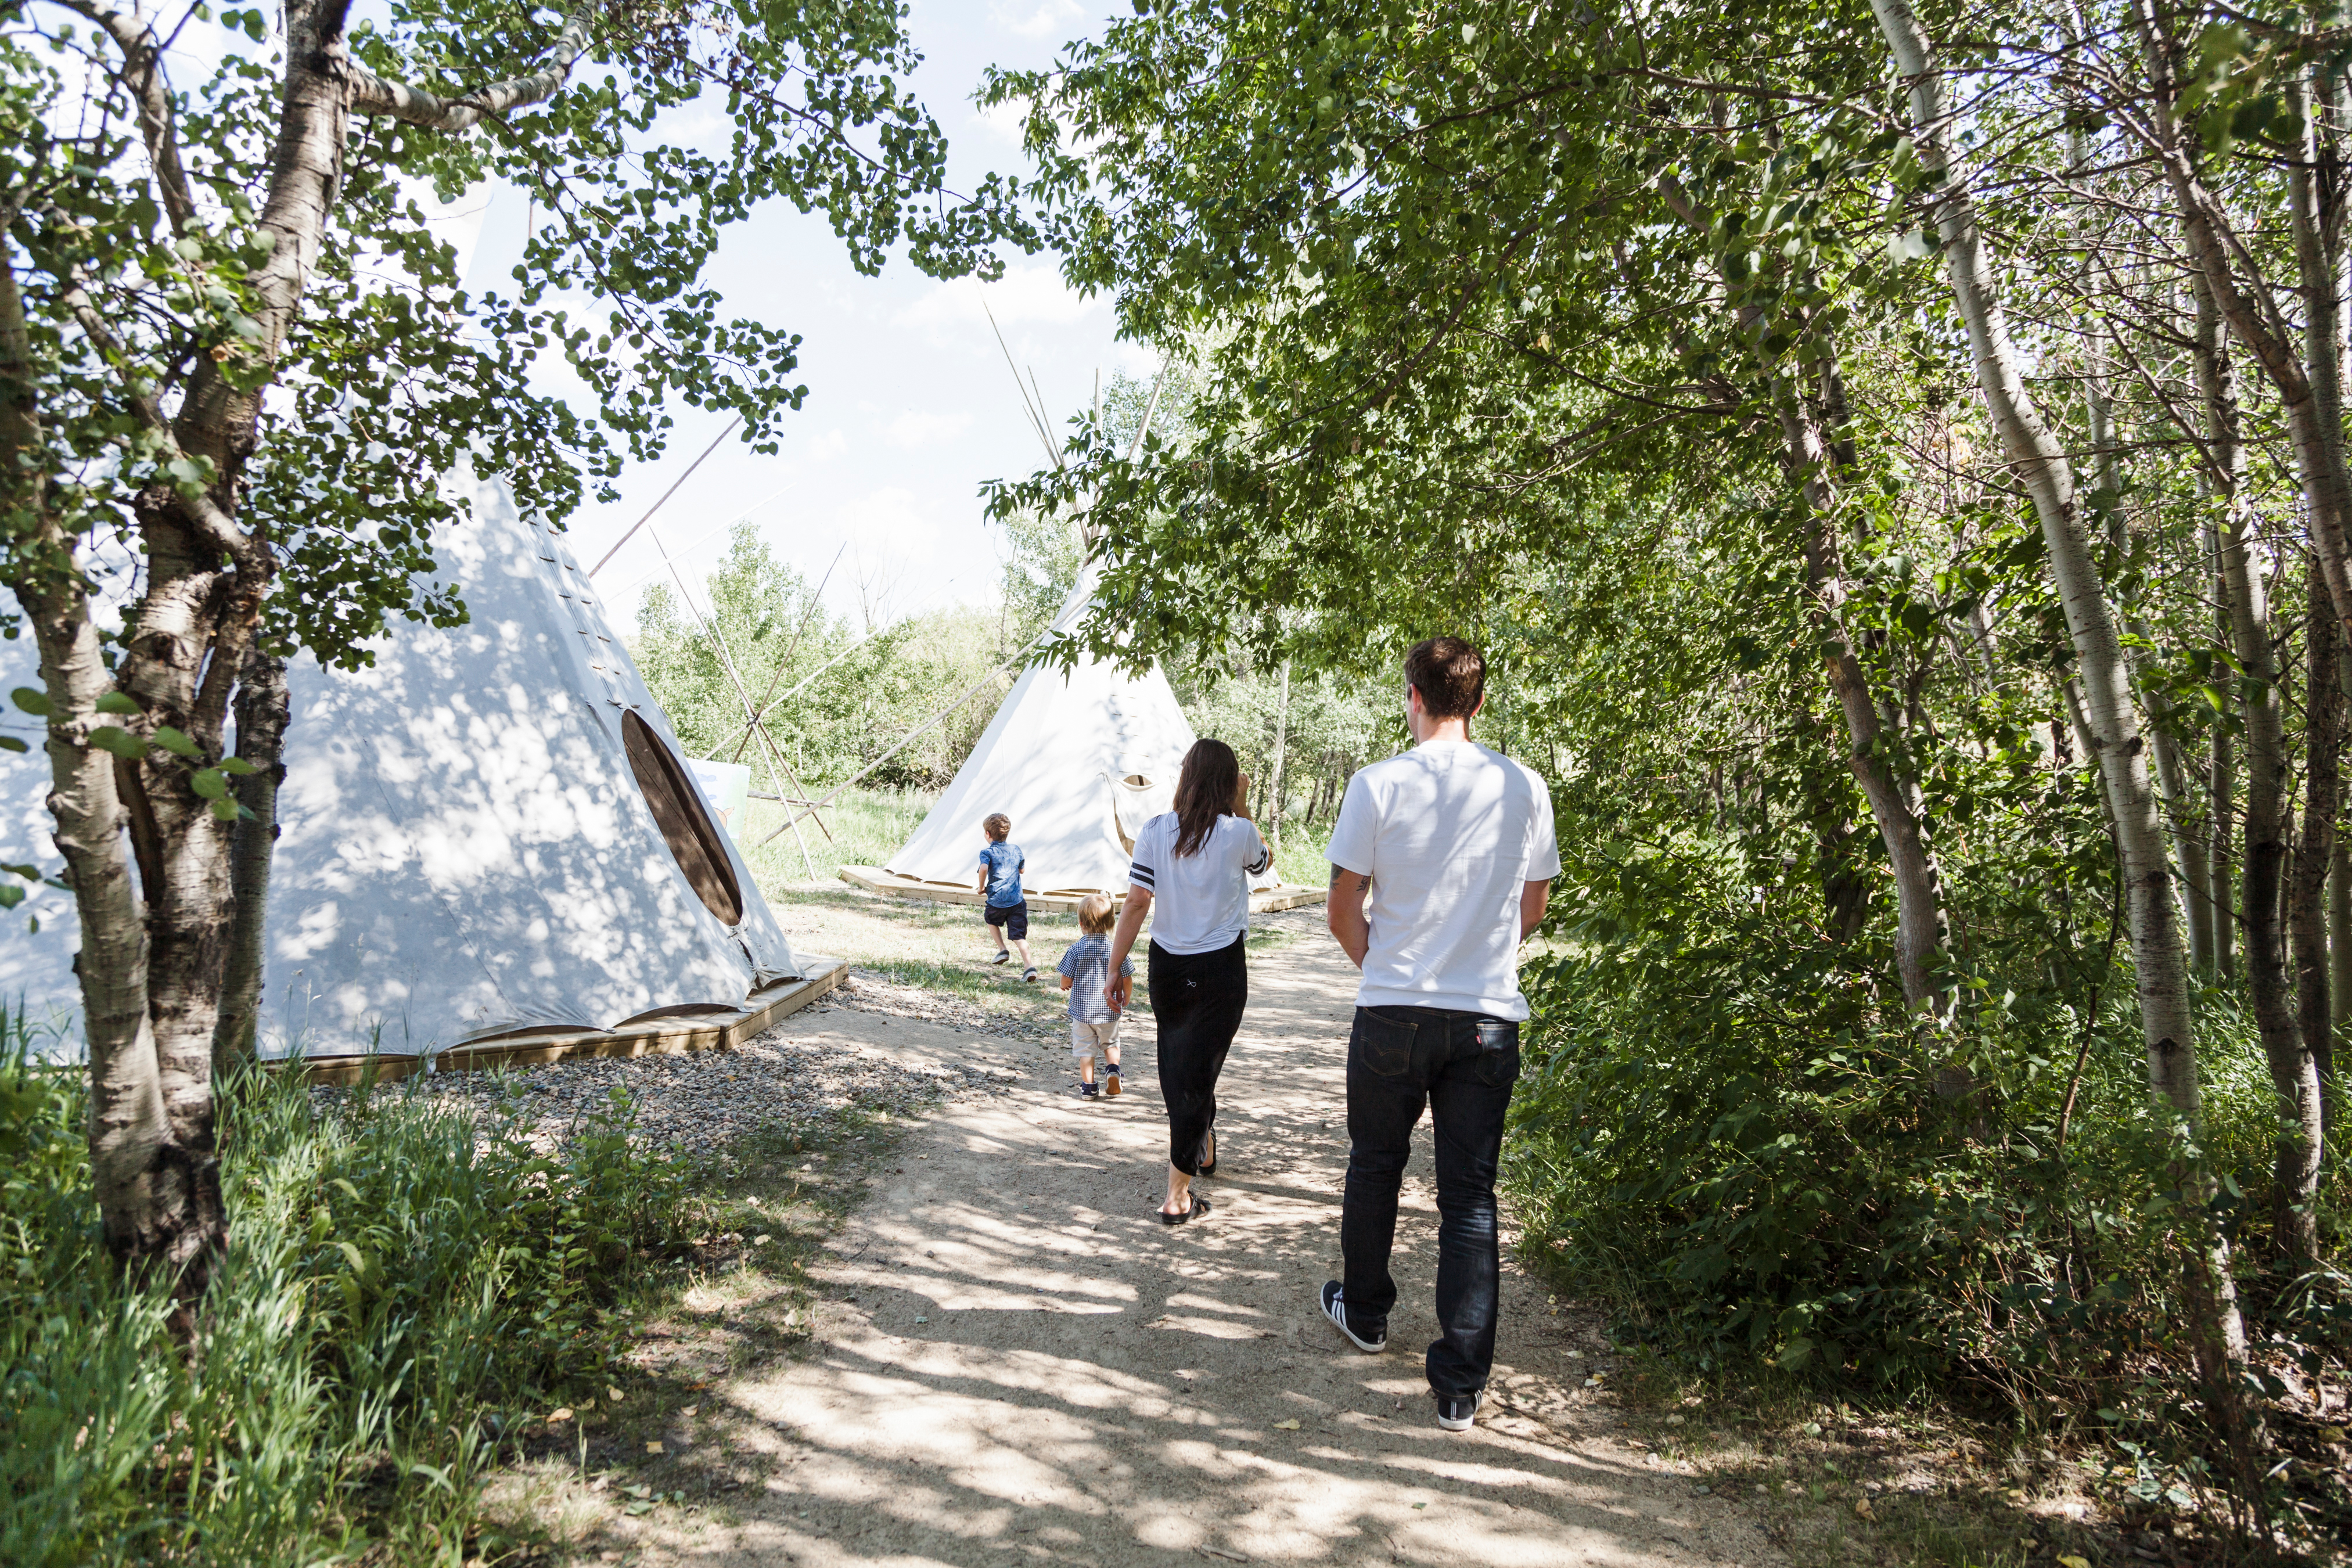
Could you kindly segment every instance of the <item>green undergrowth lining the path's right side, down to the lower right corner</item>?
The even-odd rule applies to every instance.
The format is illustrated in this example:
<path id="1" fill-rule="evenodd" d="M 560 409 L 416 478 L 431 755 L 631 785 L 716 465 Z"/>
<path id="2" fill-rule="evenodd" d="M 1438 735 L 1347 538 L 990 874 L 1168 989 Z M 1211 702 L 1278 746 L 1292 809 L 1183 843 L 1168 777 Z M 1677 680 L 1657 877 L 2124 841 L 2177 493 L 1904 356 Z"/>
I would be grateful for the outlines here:
<path id="1" fill-rule="evenodd" d="M 1778 1425 L 1816 1436 L 1830 1408 L 1957 1420 L 2027 1455 L 1999 1467 L 2004 1512 L 2093 1497 L 2133 1537 L 2161 1523 L 2209 1540 L 2192 1561 L 2237 1561 L 2183 1305 L 2194 1208 L 2103 931 L 2074 950 L 2098 976 L 1980 943 L 1952 1018 L 1919 1025 L 1867 952 L 1818 938 L 1778 865 L 1705 835 L 1564 851 L 1505 1143 L 1529 1260 L 1604 1307 L 1658 1389 L 1766 1429 L 1797 1410 Z M 2352 1281 L 2265 1265 L 2277 1095 L 2230 990 L 2199 997 L 2199 1025 L 2194 1152 L 2239 1255 L 2267 1507 L 2291 1549 L 2328 1556 L 2352 1544 Z M 2333 1154 L 2331 1246 L 2345 1175 Z"/>

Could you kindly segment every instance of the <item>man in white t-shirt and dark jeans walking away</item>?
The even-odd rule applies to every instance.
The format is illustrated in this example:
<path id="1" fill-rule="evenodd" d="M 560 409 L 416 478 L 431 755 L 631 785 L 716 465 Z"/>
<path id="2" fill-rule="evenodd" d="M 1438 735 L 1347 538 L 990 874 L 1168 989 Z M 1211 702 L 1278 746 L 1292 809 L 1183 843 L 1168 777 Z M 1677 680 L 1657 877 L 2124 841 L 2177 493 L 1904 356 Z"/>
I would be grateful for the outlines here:
<path id="1" fill-rule="evenodd" d="M 1486 661 L 1461 637 L 1404 656 L 1414 750 L 1359 769 L 1331 830 L 1331 936 L 1364 983 L 1348 1037 L 1345 1281 L 1322 1312 L 1364 1352 L 1388 1349 L 1397 1187 L 1428 1105 L 1437 1133 L 1437 1425 L 1463 1432 L 1494 1371 L 1501 1253 L 1494 1171 L 1519 1079 L 1519 943 L 1543 922 L 1559 844 L 1552 792 L 1470 741 Z M 1367 898 L 1369 893 L 1369 898 Z"/>

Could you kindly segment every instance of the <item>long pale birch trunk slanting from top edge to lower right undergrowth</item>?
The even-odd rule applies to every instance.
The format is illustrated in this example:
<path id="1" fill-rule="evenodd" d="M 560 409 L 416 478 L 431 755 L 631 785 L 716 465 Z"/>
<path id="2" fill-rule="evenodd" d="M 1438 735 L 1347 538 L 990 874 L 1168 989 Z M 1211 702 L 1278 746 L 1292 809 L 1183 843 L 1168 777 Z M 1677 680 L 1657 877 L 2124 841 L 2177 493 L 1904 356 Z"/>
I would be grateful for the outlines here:
<path id="1" fill-rule="evenodd" d="M 2098 769 L 2107 788 L 2122 856 L 2140 1032 L 2147 1048 L 2147 1086 L 2187 1128 L 2197 1128 L 2197 1041 L 2190 1018 L 2187 964 L 2171 898 L 2171 870 L 2164 856 L 2164 827 L 2147 780 L 2145 738 L 2131 708 L 2124 649 L 2107 607 L 2105 583 L 2082 536 L 2074 468 L 2065 447 L 2042 421 L 2032 390 L 2025 386 L 2018 348 L 2009 336 L 1992 259 L 1976 221 L 1976 197 L 1966 169 L 1957 167 L 1952 158 L 1952 106 L 1933 42 L 1907 0 L 1872 0 L 1870 9 L 1886 35 L 1896 73 L 1910 96 L 1912 146 L 1933 190 L 1929 200 L 1936 233 L 1943 240 L 1952 301 L 1969 329 L 1978 393 L 2016 477 L 2032 496 L 2049 548 L 2051 576 L 2065 607 L 2082 679 L 2084 722 L 2098 745 Z M 2183 1159 L 2176 1175 L 2201 1213 L 2211 1192 L 2206 1173 Z M 2230 1276 L 2230 1241 L 2206 1220 L 2197 1220 L 2197 1229 L 2190 1288 L 2199 1373 L 2244 1467 L 2251 1448 L 2237 1389 L 2246 1361 L 2246 1328 Z"/>

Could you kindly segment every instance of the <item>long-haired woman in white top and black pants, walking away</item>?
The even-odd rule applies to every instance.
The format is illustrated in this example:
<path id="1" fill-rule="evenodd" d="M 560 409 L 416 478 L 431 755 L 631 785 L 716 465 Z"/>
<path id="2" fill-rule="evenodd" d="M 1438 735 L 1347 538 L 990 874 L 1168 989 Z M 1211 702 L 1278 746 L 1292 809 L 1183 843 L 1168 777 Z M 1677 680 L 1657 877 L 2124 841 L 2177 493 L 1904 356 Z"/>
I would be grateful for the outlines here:
<path id="1" fill-rule="evenodd" d="M 1216 1074 L 1249 1006 L 1249 879 L 1272 851 L 1249 820 L 1249 780 L 1223 741 L 1195 741 L 1176 776 L 1176 809 L 1143 823 L 1127 870 L 1127 907 L 1110 938 L 1110 973 L 1124 1009 L 1134 980 L 1120 973 L 1143 914 L 1152 917 L 1145 971 L 1160 1023 L 1160 1098 L 1169 1112 L 1169 1197 L 1162 1225 L 1209 1213 L 1195 1175 L 1216 1173 Z"/>

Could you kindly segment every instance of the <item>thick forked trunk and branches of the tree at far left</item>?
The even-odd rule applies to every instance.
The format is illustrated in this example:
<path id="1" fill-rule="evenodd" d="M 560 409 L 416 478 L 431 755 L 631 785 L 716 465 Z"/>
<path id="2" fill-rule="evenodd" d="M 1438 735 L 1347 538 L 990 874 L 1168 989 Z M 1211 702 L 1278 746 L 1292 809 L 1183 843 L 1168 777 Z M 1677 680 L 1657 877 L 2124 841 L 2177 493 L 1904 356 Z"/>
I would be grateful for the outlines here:
<path id="1" fill-rule="evenodd" d="M 139 106 L 148 174 L 160 209 L 183 228 L 198 202 L 174 143 L 172 99 L 158 73 L 165 42 L 139 9 L 101 0 L 61 0 L 87 16 L 122 54 L 118 82 Z M 240 522 L 245 465 L 261 425 L 261 400 L 285 357 L 303 289 L 327 240 L 327 216 L 343 186 L 343 150 L 355 106 L 346 47 L 348 0 L 289 0 L 285 7 L 285 80 L 256 228 L 270 247 L 245 282 L 254 331 L 233 350 L 238 374 L 209 353 L 188 355 L 179 407 L 167 411 L 153 388 L 127 374 L 129 360 L 101 306 L 71 273 L 59 273 L 59 301 L 73 313 L 101 362 L 122 364 L 120 411 L 141 440 L 172 458 L 176 473 L 202 475 L 198 489 L 158 482 L 132 503 L 143 552 L 141 597 L 113 670 L 75 562 L 75 541 L 40 505 L 31 515 L 42 550 L 19 550 L 9 583 L 40 649 L 49 705 L 49 811 L 82 924 L 80 985 L 89 1041 L 89 1152 L 111 1251 L 134 1265 L 172 1269 L 183 1300 L 202 1293 L 212 1258 L 226 1241 L 214 1159 L 212 1072 L 221 1037 L 221 990 L 228 957 L 233 889 L 252 891 L 247 914 L 259 926 L 259 865 L 266 837 L 233 872 L 230 823 L 198 792 L 198 776 L 221 778 L 228 708 L 275 576 L 275 552 L 252 522 Z M 428 94 L 365 78 L 372 108 L 416 125 L 452 129 L 550 94 L 586 49 L 595 5 L 581 5 L 555 47 L 560 66 L 442 103 Z M 362 73 L 365 75 L 365 73 Z M 534 96 L 536 94 L 536 96 Z M 7 214 L 14 221 L 14 214 Z M 42 266 L 42 252 L 31 252 Z M 12 475 L 9 503 L 26 496 L 21 475 L 40 475 L 42 454 L 26 320 L 14 273 L 0 296 L 0 339 L 9 414 L 0 442 Z M 16 461 L 21 454 L 24 461 Z M 47 529 L 47 536 L 40 536 Z M 132 710 L 96 703 L 127 696 Z M 106 748 L 96 729 L 113 729 Z M 259 738 L 261 724 L 254 733 Z M 125 733 L 127 731 L 127 733 Z M 167 733 L 172 731 L 172 733 Z M 120 755 L 111 755 L 120 752 Z M 143 750 L 141 750 L 143 748 Z M 273 788 L 270 785 L 263 788 Z M 125 844 L 127 842 L 127 844 Z M 134 882 L 136 867 L 136 882 Z M 259 943 L 259 931 L 252 933 Z M 256 954 L 247 954 L 249 964 Z M 256 978 L 256 971 L 254 971 Z M 226 1020 L 230 1041 L 252 1037 L 252 985 L 240 983 Z"/>

